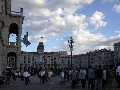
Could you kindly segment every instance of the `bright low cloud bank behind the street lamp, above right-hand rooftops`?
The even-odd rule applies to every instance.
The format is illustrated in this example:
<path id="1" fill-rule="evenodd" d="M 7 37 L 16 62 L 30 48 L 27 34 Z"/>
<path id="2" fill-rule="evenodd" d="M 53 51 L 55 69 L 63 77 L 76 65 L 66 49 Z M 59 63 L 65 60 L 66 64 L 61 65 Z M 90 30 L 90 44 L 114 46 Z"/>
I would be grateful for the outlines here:
<path id="1" fill-rule="evenodd" d="M 100 33 L 92 34 L 89 31 L 83 30 L 80 33 L 74 32 L 72 37 L 75 42 L 73 43 L 73 53 L 82 54 L 103 48 L 114 50 L 113 45 L 119 42 L 120 35 L 106 38 Z M 68 54 L 70 54 L 68 40 L 70 40 L 70 36 L 66 36 L 62 40 L 59 40 L 59 42 L 61 41 L 61 47 L 55 49 L 67 50 Z"/>

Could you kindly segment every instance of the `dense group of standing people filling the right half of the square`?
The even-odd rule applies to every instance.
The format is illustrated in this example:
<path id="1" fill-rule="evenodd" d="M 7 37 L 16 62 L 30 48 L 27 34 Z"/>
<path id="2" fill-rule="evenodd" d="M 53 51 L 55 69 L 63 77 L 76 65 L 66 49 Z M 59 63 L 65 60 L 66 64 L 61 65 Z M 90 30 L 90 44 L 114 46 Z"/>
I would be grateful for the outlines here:
<path id="1" fill-rule="evenodd" d="M 96 68 L 89 66 L 88 68 L 62 70 L 60 76 L 62 81 L 72 80 L 73 89 L 81 85 L 81 89 L 88 86 L 90 90 L 105 90 L 106 88 L 114 90 L 116 85 L 120 88 L 120 63 L 116 67 L 113 65 Z"/>

